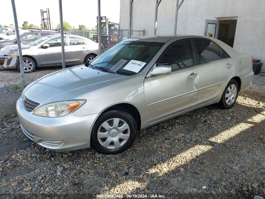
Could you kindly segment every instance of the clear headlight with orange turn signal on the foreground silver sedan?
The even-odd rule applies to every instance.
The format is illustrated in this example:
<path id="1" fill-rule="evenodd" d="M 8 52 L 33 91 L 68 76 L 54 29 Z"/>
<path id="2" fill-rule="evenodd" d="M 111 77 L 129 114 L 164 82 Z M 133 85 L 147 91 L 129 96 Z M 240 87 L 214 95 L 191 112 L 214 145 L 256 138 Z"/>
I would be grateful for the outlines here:
<path id="1" fill-rule="evenodd" d="M 70 100 L 63 102 L 53 102 L 50 104 L 45 104 L 37 108 L 33 114 L 45 117 L 61 117 L 72 113 L 73 111 L 80 108 L 86 100 Z"/>

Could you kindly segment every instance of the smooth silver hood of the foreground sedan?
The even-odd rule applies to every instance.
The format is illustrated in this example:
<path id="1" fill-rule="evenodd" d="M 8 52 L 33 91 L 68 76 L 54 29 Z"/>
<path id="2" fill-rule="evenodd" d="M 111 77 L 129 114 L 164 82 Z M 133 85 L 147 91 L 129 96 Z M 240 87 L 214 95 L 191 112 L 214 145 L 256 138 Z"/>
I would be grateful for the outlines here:
<path id="1" fill-rule="evenodd" d="M 23 95 L 40 103 L 82 99 L 90 91 L 97 90 L 127 76 L 106 73 L 84 65 L 60 70 L 36 80 L 27 86 Z M 81 98 L 80 98 L 81 97 Z"/>

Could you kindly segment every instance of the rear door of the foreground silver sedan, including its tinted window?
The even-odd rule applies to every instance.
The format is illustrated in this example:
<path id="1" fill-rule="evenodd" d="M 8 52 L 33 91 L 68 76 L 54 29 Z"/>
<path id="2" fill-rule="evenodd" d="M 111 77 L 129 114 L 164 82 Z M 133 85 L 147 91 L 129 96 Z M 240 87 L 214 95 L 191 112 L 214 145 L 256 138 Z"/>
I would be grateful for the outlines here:
<path id="1" fill-rule="evenodd" d="M 197 105 L 214 100 L 230 80 L 235 63 L 215 42 L 194 38 L 199 71 Z"/>

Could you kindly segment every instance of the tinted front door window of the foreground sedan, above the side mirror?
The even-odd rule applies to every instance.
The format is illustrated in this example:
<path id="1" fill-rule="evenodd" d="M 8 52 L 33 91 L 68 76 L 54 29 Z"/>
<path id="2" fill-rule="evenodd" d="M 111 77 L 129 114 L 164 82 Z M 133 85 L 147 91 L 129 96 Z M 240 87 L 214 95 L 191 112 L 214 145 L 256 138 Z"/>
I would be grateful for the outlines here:
<path id="1" fill-rule="evenodd" d="M 169 47 L 158 60 L 158 65 L 170 65 L 171 70 L 182 69 L 193 65 L 190 40 L 179 41 Z"/>

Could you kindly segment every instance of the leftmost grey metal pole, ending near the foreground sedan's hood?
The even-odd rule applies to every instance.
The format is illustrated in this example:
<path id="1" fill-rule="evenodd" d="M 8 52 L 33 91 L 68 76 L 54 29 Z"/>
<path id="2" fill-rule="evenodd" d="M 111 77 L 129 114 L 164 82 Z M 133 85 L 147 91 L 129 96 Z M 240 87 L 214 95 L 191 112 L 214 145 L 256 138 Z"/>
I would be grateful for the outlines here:
<path id="1" fill-rule="evenodd" d="M 15 27 L 16 27 L 16 36 L 17 36 L 17 43 L 19 48 L 19 61 L 20 61 L 20 77 L 21 77 L 21 84 L 20 89 L 23 91 L 24 89 L 24 62 L 22 57 L 22 51 L 21 51 L 21 44 L 20 44 L 20 37 L 19 37 L 19 25 L 18 25 L 18 19 L 17 19 L 17 12 L 16 12 L 16 6 L 15 6 L 15 0 L 11 0 L 12 8 L 13 8 L 13 15 L 14 15 L 14 21 L 15 21 Z"/>

